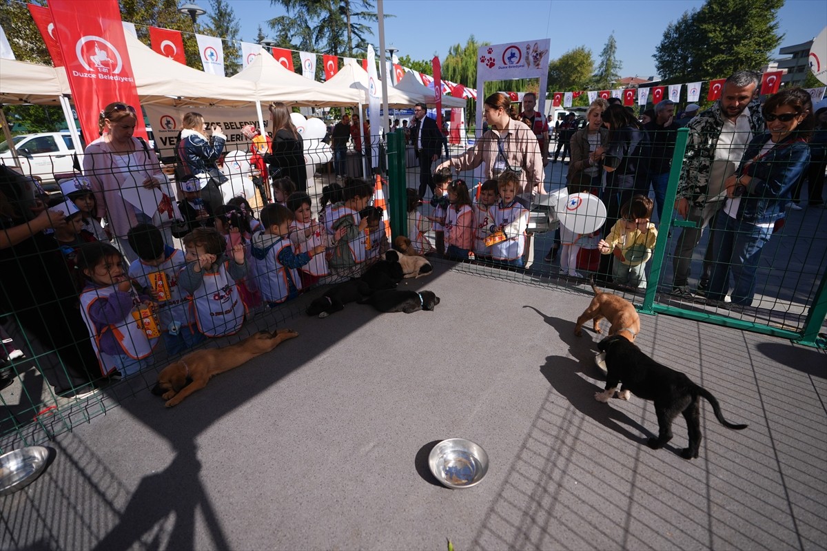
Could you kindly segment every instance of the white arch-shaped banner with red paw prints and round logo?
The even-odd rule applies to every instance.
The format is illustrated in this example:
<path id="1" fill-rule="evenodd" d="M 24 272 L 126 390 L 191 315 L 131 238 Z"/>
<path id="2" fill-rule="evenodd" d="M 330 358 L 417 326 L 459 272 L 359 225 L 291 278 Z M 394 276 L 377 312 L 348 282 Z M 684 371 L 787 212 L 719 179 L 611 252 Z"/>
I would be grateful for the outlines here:
<path id="1" fill-rule="evenodd" d="M 480 46 L 477 50 L 476 89 L 481 91 L 486 81 L 511 78 L 539 78 L 538 112 L 546 108 L 548 88 L 548 50 L 551 39 L 521 40 L 509 44 Z M 482 103 L 476 103 L 476 135 L 482 135 Z"/>

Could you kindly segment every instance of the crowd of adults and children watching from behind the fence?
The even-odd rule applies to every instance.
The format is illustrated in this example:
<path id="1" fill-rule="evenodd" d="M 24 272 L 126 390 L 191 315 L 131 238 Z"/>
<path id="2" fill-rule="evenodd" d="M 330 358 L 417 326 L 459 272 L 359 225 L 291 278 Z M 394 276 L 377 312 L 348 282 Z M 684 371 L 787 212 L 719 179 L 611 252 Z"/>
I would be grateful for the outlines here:
<path id="1" fill-rule="evenodd" d="M 757 88 L 757 74 L 733 74 L 720 100 L 686 121 L 675 209 L 695 224 L 676 236 L 677 296 L 751 304 L 762 246 L 781 229 L 805 181 L 810 205 L 822 203 L 827 111 L 814 113 L 801 88 L 782 89 L 761 106 Z M 657 241 L 653 213 L 660 220 L 681 126 L 675 104 L 658 103 L 642 122 L 619 102 L 595 100 L 585 126 L 558 127 L 553 157 L 550 126 L 535 105 L 526 94 L 517 113 L 506 95 L 486 97 L 485 132 L 436 167 L 444 134 L 426 106 L 414 107 L 412 123 L 399 126 L 419 164 L 418 188 L 406 195 L 414 250 L 523 268 L 529 210 L 547 193 L 544 167 L 562 150 L 567 192 L 600 197 L 607 220 L 587 235 L 562 228 L 547 259 L 560 254 L 571 276 L 590 272 L 646 287 Z M 352 124 L 342 116 L 332 129 L 337 181 L 318 197 L 308 193 L 303 142 L 284 104 L 270 105 L 271 136 L 245 127 L 261 210 L 222 194 L 226 138 L 218 126 L 207 132 L 198 112 L 184 115 L 171 178 L 132 135 L 136 116 L 121 102 L 103 109 L 101 137 L 86 148 L 83 173 L 60 182 L 59 200 L 48 202 L 30 178 L 0 167 L 2 331 L 41 358 L 45 379 L 63 396 L 131 377 L 159 346 L 181 354 L 232 335 L 251 311 L 356 277 L 390 247 L 384 213 L 371 206 L 373 185 L 347 177 L 343 166 L 349 143 L 369 146 L 370 129 L 356 116 Z M 454 177 L 480 166 L 484 180 L 476 186 Z M 709 245 L 691 291 L 692 254 L 705 230 Z M 59 316 L 64 330 L 50 330 L 47 315 Z"/>

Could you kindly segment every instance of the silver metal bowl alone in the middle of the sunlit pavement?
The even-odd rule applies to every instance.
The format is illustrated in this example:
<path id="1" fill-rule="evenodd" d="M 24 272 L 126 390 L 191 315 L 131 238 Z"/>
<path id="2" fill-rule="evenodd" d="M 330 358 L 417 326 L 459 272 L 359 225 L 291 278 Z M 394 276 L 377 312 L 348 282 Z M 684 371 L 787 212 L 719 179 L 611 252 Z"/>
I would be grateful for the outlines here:
<path id="1" fill-rule="evenodd" d="M 488 472 L 488 454 L 471 440 L 450 438 L 433 447 L 428 467 L 443 485 L 468 488 L 479 484 Z"/>

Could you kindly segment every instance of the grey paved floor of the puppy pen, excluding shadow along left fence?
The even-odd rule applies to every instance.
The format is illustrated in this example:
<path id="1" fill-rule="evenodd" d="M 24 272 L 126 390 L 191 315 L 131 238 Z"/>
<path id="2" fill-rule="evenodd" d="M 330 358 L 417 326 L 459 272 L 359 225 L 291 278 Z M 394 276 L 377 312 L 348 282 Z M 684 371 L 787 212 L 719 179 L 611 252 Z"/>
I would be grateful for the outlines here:
<path id="1" fill-rule="evenodd" d="M 749 424 L 706 404 L 688 462 L 681 420 L 654 451 L 651 404 L 595 401 L 598 336 L 572 335 L 582 289 L 444 265 L 409 287 L 442 303 L 296 317 L 298 339 L 180 406 L 141 390 L 60 435 L 41 478 L 0 498 L 0 548 L 827 548 L 823 351 L 644 316 L 643 350 Z M 457 436 L 489 454 L 477 487 L 428 473 Z"/>

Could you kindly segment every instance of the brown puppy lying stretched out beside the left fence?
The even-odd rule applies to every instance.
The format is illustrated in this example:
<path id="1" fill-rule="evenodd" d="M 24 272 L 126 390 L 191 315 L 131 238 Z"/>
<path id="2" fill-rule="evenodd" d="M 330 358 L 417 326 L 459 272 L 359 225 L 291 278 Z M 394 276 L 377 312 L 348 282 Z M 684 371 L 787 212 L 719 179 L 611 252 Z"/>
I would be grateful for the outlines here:
<path id="1" fill-rule="evenodd" d="M 152 393 L 163 397 L 167 407 L 177 406 L 193 392 L 206 387 L 213 375 L 237 368 L 247 360 L 270 352 L 282 341 L 298 336 L 292 329 L 280 329 L 272 333 L 259 331 L 231 346 L 190 352 L 158 373 L 158 382 L 152 388 Z"/>

